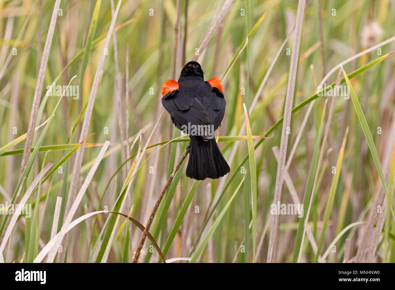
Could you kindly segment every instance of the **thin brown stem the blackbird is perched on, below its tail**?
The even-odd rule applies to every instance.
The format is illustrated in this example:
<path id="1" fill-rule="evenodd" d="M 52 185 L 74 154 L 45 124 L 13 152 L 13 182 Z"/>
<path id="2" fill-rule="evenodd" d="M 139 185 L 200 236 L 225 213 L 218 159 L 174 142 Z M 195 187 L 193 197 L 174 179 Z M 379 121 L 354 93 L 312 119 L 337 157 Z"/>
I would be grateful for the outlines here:
<path id="1" fill-rule="evenodd" d="M 174 168 L 173 173 L 169 176 L 169 179 L 167 180 L 165 186 L 163 187 L 163 189 L 162 189 L 162 191 L 161 191 L 161 193 L 160 193 L 160 195 L 158 197 L 158 200 L 156 201 L 156 203 L 154 205 L 154 208 L 151 211 L 151 214 L 149 216 L 149 219 L 147 221 L 147 225 L 145 226 L 143 234 L 141 235 L 141 239 L 140 239 L 139 245 L 137 246 L 136 253 L 134 254 L 134 257 L 133 257 L 133 263 L 137 263 L 137 261 L 139 260 L 141 249 L 143 249 L 143 245 L 144 245 L 145 239 L 147 238 L 149 229 L 151 227 L 152 221 L 154 220 L 156 211 L 159 208 L 160 202 L 162 202 L 162 199 L 163 199 L 163 197 L 164 197 L 164 195 L 165 195 L 165 193 L 167 191 L 167 188 L 169 187 L 171 181 L 173 180 L 176 172 L 179 170 L 182 162 L 184 162 L 184 159 L 186 158 L 186 155 L 188 155 L 188 153 L 190 151 L 191 151 L 191 146 L 190 146 L 190 144 L 188 144 L 186 146 L 186 151 L 185 151 L 184 155 L 182 155 L 180 161 L 178 161 L 176 167 Z"/>

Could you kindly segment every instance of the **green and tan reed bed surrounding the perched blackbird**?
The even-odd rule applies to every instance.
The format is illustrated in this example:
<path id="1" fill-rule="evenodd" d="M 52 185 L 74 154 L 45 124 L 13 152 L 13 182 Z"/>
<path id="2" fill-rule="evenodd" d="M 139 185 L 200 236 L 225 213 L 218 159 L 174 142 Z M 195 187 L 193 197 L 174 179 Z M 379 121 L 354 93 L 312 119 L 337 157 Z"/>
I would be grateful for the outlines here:
<path id="1" fill-rule="evenodd" d="M 395 262 L 394 14 L 393 0 L 3 0 L 0 262 Z M 225 87 L 219 180 L 186 178 L 188 157 L 175 170 L 189 138 L 160 86 L 192 59 Z"/>

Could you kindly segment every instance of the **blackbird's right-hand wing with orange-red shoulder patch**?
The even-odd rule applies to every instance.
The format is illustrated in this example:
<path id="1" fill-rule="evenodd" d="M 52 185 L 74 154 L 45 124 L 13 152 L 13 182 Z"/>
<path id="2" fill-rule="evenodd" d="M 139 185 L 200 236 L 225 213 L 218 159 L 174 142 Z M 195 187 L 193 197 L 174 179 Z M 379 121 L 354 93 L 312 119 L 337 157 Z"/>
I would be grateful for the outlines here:
<path id="1" fill-rule="evenodd" d="M 214 130 L 221 125 L 224 118 L 226 101 L 224 98 L 224 87 L 218 78 L 213 78 L 206 82 L 207 97 L 203 99 L 204 107 L 209 114 L 210 124 L 214 125 Z"/>

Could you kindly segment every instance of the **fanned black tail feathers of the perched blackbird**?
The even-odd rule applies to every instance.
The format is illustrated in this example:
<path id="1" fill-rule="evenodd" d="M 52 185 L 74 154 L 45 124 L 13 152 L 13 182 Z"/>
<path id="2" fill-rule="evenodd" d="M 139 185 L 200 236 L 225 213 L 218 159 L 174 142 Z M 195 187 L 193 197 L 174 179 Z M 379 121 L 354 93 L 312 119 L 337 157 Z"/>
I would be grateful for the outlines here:
<path id="1" fill-rule="evenodd" d="M 196 180 L 216 179 L 230 171 L 215 138 L 208 141 L 200 136 L 190 136 L 190 138 L 191 151 L 186 167 L 186 176 Z"/>

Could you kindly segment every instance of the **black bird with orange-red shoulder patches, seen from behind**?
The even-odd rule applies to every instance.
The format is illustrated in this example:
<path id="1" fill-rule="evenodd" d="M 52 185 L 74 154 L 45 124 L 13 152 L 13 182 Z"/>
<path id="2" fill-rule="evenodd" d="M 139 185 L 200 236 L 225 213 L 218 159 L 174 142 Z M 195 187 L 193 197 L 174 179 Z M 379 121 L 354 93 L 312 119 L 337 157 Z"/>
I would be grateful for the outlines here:
<path id="1" fill-rule="evenodd" d="M 178 82 L 162 86 L 162 104 L 174 125 L 188 134 L 191 151 L 186 176 L 204 180 L 220 178 L 230 171 L 214 138 L 225 114 L 224 86 L 220 79 L 203 79 L 198 62 L 188 62 Z"/>

